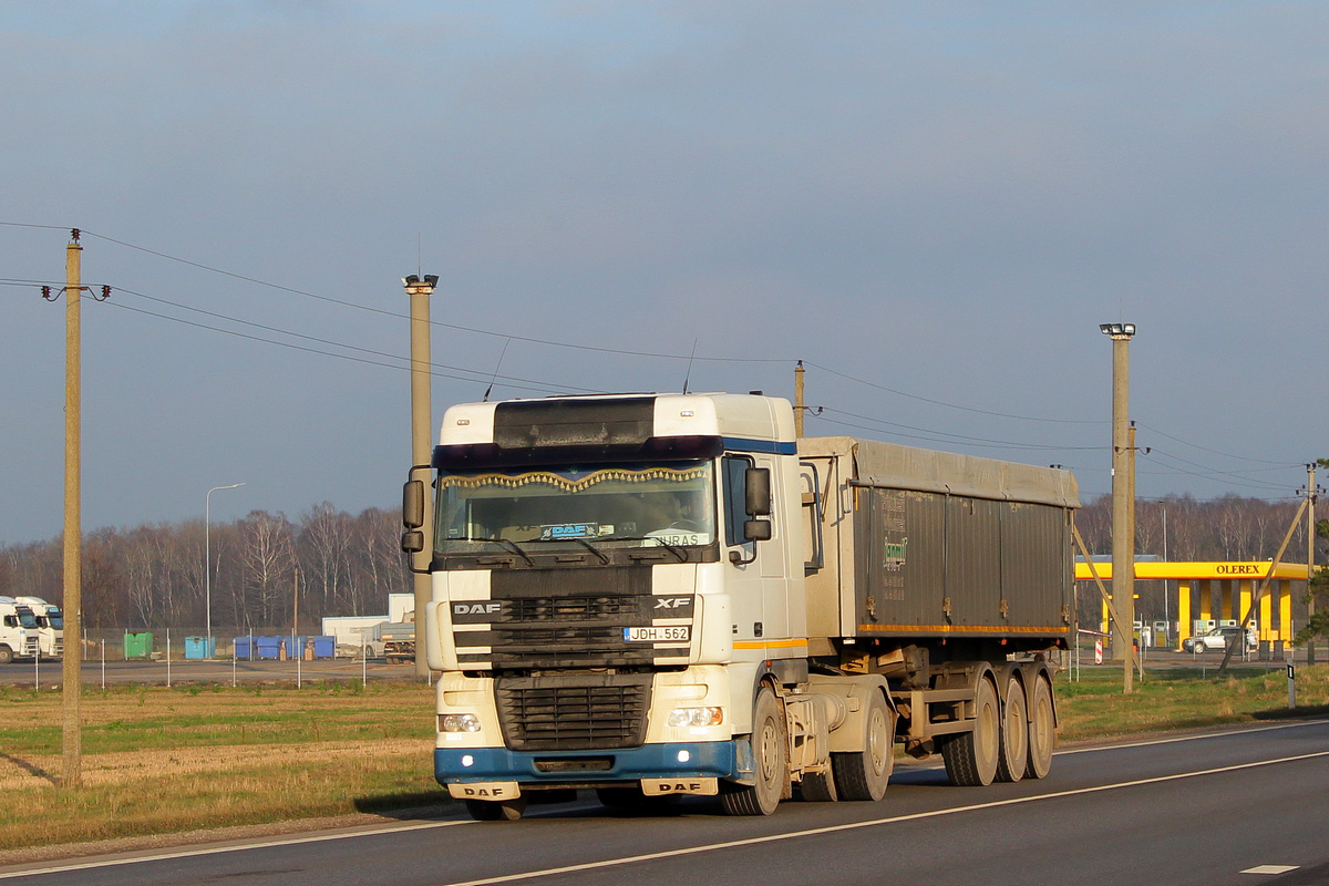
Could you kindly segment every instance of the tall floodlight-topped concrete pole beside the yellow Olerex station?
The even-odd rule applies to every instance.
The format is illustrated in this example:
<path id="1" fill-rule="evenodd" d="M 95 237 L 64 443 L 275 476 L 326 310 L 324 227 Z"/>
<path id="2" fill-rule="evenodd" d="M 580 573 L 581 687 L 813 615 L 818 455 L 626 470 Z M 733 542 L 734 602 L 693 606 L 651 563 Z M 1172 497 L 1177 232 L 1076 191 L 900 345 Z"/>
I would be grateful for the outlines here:
<path id="1" fill-rule="evenodd" d="M 1131 691 L 1135 667 L 1135 538 L 1134 466 L 1130 433 L 1130 353 L 1134 323 L 1100 323 L 1099 331 L 1112 339 L 1112 602 L 1116 603 L 1114 647 L 1124 662 L 1123 692 Z M 1115 652 L 1115 648 L 1114 648 Z"/>

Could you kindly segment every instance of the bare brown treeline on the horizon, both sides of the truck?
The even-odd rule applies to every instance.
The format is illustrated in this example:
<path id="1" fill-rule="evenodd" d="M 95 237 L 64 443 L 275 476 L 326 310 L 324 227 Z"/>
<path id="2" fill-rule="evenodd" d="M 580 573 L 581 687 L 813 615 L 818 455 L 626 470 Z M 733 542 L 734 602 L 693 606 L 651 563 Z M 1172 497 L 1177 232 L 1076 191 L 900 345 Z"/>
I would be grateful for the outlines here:
<path id="1" fill-rule="evenodd" d="M 1329 503 L 1329 502 L 1326 502 Z M 1271 503 L 1227 495 L 1196 501 L 1187 495 L 1140 501 L 1135 547 L 1140 555 L 1172 561 L 1263 561 L 1288 531 L 1297 502 Z M 1326 511 L 1320 507 L 1320 517 Z M 1076 526 L 1095 554 L 1111 553 L 1112 503 L 1104 495 L 1076 511 Z M 324 502 L 290 519 L 251 511 L 230 523 L 213 522 L 213 634 L 291 630 L 296 600 L 300 632 L 315 632 L 326 615 L 387 612 L 388 594 L 412 590 L 399 547 L 400 514 L 371 507 L 360 514 Z M 1325 539 L 1317 555 L 1325 559 Z M 84 545 L 84 624 L 90 632 L 120 630 L 198 630 L 206 622 L 205 531 L 202 521 L 101 529 Z M 1285 558 L 1305 562 L 1304 523 Z M 60 602 L 60 538 L 0 547 L 0 594 Z M 1176 616 L 1162 582 L 1140 582 L 1138 612 L 1144 619 Z M 1175 594 L 1175 587 L 1172 591 Z M 1086 627 L 1098 619 L 1096 591 L 1079 595 Z"/>

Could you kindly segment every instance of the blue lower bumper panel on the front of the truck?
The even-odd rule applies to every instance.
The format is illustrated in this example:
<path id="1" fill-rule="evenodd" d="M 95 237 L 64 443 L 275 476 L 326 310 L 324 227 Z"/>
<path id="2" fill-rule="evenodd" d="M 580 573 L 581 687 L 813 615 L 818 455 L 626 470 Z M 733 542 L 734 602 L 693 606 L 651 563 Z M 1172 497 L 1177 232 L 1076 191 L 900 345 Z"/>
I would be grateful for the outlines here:
<path id="1" fill-rule="evenodd" d="M 615 751 L 529 753 L 506 748 L 433 752 L 433 773 L 441 785 L 466 781 L 517 781 L 550 785 L 638 778 L 752 777 L 747 741 L 702 744 L 649 744 Z"/>

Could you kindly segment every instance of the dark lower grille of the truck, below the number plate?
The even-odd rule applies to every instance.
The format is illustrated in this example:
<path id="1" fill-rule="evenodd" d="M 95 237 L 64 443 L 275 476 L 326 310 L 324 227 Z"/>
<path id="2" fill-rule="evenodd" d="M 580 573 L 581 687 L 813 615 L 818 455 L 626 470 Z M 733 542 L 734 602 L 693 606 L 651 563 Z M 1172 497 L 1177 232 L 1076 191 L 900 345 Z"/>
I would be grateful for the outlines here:
<path id="1" fill-rule="evenodd" d="M 512 751 L 607 751 L 646 741 L 649 673 L 498 677 L 494 693 Z"/>

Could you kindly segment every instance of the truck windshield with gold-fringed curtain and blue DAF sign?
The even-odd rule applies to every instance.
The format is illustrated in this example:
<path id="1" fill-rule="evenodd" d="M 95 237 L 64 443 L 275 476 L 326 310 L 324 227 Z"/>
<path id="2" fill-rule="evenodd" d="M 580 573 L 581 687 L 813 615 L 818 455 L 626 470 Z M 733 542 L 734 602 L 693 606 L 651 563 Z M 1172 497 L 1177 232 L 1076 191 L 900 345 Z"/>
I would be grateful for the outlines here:
<path id="1" fill-rule="evenodd" d="M 439 549 L 477 541 L 710 545 L 714 501 L 707 461 L 444 472 Z"/>

